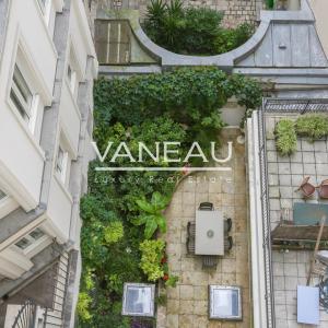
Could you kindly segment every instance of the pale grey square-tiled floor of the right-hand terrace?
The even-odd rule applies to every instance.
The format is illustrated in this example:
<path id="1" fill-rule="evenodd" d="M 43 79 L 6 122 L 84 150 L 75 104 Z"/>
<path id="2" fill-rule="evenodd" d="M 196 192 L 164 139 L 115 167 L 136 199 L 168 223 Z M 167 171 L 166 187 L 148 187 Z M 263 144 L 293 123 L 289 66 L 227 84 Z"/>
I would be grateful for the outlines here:
<path id="1" fill-rule="evenodd" d="M 317 197 L 304 200 L 295 191 L 304 176 L 311 176 L 314 185 L 328 178 L 328 140 L 311 143 L 298 139 L 297 151 L 292 156 L 277 154 L 273 130 L 282 117 L 285 118 L 281 115 L 266 117 L 271 230 L 280 222 L 283 209 L 289 209 L 289 220 L 292 220 L 295 202 L 318 202 Z M 277 328 L 303 327 L 296 323 L 296 288 L 297 284 L 306 284 L 312 254 L 308 250 L 272 251 Z M 324 311 L 320 311 L 319 327 L 328 327 L 328 314 Z"/>

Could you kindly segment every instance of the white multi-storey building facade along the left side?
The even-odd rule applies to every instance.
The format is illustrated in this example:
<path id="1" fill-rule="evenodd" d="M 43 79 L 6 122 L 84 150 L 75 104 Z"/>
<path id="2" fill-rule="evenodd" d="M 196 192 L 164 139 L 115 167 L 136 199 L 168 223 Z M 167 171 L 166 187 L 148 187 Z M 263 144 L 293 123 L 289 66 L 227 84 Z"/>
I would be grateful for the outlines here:
<path id="1" fill-rule="evenodd" d="M 0 327 L 27 301 L 72 325 L 97 74 L 87 5 L 0 1 Z"/>

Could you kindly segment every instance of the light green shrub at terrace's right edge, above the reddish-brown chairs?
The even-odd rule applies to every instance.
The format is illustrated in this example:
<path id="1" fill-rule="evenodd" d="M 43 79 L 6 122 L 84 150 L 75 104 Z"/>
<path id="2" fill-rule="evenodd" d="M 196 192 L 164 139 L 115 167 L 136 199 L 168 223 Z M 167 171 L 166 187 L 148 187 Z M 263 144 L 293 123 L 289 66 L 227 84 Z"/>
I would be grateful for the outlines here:
<path id="1" fill-rule="evenodd" d="M 315 141 L 328 136 L 328 118 L 319 114 L 300 116 L 296 119 L 295 129 L 300 137 Z"/>

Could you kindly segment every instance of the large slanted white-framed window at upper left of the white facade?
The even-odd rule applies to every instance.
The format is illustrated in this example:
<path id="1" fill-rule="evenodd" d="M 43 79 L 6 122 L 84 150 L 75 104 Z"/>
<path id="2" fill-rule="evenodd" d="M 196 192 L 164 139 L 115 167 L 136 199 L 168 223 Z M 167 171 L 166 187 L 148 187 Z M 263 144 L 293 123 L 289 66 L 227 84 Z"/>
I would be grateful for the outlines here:
<path id="1" fill-rule="evenodd" d="M 33 94 L 20 68 L 15 65 L 10 98 L 25 121 L 31 119 Z"/>

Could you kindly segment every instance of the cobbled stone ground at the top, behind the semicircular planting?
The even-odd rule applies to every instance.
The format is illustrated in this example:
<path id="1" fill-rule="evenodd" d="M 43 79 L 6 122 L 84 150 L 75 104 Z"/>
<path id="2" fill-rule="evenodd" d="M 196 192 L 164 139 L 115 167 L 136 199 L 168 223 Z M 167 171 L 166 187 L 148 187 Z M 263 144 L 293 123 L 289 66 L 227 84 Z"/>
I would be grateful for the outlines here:
<path id="1" fill-rule="evenodd" d="M 166 0 L 169 1 L 169 0 Z M 95 0 L 101 9 L 138 9 L 144 17 L 150 0 Z M 256 22 L 262 0 L 184 0 L 185 5 L 207 7 L 223 11 L 223 25 L 234 27 L 244 22 Z"/>

